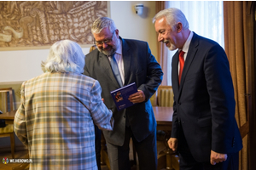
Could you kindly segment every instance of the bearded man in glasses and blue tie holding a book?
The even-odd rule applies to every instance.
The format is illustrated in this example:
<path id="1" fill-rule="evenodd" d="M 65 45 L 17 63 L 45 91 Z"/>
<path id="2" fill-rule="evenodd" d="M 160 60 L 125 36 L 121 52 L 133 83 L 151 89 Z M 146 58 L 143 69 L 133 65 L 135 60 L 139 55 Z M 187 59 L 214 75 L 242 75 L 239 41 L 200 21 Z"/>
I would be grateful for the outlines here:
<path id="1" fill-rule="evenodd" d="M 86 55 L 84 74 L 100 82 L 105 105 L 113 111 L 113 132 L 103 131 L 110 167 L 113 170 L 131 168 L 129 143 L 132 139 L 140 169 L 154 170 L 157 167 L 156 121 L 149 99 L 162 81 L 160 65 L 147 42 L 119 37 L 119 30 L 107 17 L 95 20 L 91 31 L 97 49 Z M 119 74 L 113 74 L 113 59 Z M 138 91 L 129 99 L 137 105 L 117 111 L 110 92 L 131 82 L 136 82 Z"/>

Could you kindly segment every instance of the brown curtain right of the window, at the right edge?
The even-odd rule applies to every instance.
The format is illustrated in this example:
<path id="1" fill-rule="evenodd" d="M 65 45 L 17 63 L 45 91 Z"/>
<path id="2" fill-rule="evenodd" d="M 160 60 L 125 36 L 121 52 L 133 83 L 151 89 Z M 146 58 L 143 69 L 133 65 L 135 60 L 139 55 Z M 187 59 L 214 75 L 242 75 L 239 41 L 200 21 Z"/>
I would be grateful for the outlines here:
<path id="1" fill-rule="evenodd" d="M 230 72 L 235 88 L 236 122 L 238 127 L 247 123 L 246 82 L 247 82 L 247 29 L 246 7 L 244 1 L 224 1 L 224 45 L 230 61 Z M 242 139 L 243 149 L 240 151 L 240 170 L 247 167 L 247 135 Z"/>

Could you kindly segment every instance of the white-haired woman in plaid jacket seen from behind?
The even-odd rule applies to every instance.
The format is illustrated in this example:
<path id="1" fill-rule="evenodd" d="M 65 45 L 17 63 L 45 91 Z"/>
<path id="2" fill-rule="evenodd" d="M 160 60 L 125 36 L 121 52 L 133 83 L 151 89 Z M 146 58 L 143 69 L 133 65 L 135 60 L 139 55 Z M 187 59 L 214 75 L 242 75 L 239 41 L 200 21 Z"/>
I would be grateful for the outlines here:
<path id="1" fill-rule="evenodd" d="M 30 169 L 97 169 L 94 124 L 113 130 L 98 81 L 84 76 L 79 44 L 55 42 L 44 73 L 22 83 L 15 133 L 32 159 Z"/>

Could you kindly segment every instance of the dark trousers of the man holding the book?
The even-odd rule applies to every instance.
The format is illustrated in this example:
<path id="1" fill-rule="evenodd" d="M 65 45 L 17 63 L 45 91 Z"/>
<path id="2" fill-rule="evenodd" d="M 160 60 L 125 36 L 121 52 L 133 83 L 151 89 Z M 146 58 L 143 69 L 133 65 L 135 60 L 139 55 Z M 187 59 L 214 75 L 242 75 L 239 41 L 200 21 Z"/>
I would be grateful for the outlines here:
<path id="1" fill-rule="evenodd" d="M 129 144 L 133 140 L 133 146 L 137 151 L 140 170 L 156 170 L 157 150 L 156 150 L 156 130 L 148 135 L 146 139 L 137 142 L 134 138 L 131 127 L 125 127 L 125 143 L 122 146 L 107 143 L 108 158 L 110 167 L 113 170 L 131 170 L 129 159 Z"/>

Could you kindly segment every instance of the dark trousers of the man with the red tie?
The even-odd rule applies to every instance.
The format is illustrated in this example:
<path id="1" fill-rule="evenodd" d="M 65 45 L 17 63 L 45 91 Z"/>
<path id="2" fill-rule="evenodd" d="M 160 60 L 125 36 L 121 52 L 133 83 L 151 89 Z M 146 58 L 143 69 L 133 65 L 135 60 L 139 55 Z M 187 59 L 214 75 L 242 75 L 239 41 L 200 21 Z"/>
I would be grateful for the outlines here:
<path id="1" fill-rule="evenodd" d="M 181 130 L 182 131 L 182 130 Z M 209 161 L 198 162 L 192 156 L 187 141 L 184 137 L 183 131 L 179 133 L 178 139 L 178 152 L 179 152 L 179 165 L 180 170 L 238 170 L 239 166 L 239 153 L 228 154 L 226 161 L 212 165 Z M 209 150 L 206 150 L 209 151 Z"/>

